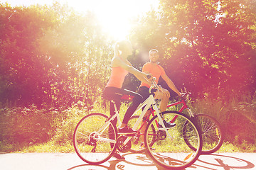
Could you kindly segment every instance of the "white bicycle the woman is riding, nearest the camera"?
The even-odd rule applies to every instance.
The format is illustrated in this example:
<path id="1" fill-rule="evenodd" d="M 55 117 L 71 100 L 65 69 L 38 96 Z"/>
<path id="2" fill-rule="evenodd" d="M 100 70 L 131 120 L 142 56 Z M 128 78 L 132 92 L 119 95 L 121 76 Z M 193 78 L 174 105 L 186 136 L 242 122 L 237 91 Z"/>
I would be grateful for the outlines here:
<path id="1" fill-rule="evenodd" d="M 166 168 L 182 169 L 191 166 L 198 159 L 202 149 L 200 128 L 193 118 L 184 113 L 177 111 L 160 113 L 156 107 L 153 93 L 151 93 L 153 88 L 157 88 L 154 81 L 149 89 L 149 98 L 146 98 L 134 112 L 137 113 L 145 106 L 132 129 L 137 129 L 146 111 L 153 106 L 156 115 L 149 121 L 144 135 L 146 153 L 156 164 Z M 131 149 L 132 140 L 136 140 L 137 134 L 118 135 L 117 127 L 112 124 L 112 120 L 117 118 L 119 125 L 121 125 L 121 120 L 115 104 L 114 108 L 115 114 L 110 118 L 102 113 L 91 113 L 85 115 L 76 126 L 73 134 L 73 145 L 75 152 L 84 162 L 101 164 L 110 159 L 117 149 L 119 152 L 128 152 Z M 163 118 L 166 121 L 175 118 L 176 126 L 167 129 Z M 196 151 L 191 150 L 187 147 L 186 142 L 181 140 L 184 124 L 188 128 L 186 130 L 187 140 L 193 144 Z"/>

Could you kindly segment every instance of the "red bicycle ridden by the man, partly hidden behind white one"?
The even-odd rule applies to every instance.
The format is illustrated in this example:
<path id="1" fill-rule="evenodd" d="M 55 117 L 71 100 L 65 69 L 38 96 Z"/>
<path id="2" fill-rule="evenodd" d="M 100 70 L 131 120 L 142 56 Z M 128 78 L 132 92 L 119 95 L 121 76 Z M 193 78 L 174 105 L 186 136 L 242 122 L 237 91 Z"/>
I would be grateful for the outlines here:
<path id="1" fill-rule="evenodd" d="M 223 139 L 224 139 L 223 130 L 221 128 L 220 123 L 218 123 L 218 121 L 215 118 L 211 117 L 210 115 L 206 115 L 203 113 L 195 114 L 191 111 L 191 108 L 189 108 L 186 104 L 186 99 L 188 98 L 189 94 L 190 93 L 186 91 L 185 93 L 183 93 L 183 97 L 181 98 L 180 101 L 176 101 L 174 103 L 169 104 L 167 108 L 181 105 L 181 108 L 179 109 L 178 112 L 183 112 L 187 110 L 188 115 L 191 118 L 196 118 L 196 120 L 198 121 L 198 124 L 201 126 L 202 137 L 203 137 L 203 148 L 202 148 L 201 154 L 212 154 L 218 151 L 218 149 L 220 149 L 220 147 L 223 145 Z M 145 151 L 144 148 L 140 147 L 140 145 L 142 145 L 141 140 L 144 135 L 144 133 L 141 131 L 142 131 L 142 127 L 145 124 L 149 123 L 149 116 L 150 115 L 154 116 L 154 109 L 150 108 L 149 111 L 150 111 L 150 114 L 146 117 L 142 125 L 137 129 L 137 133 L 138 133 L 137 139 L 132 141 L 132 147 L 130 149 L 130 152 L 142 153 Z M 130 118 L 129 120 L 129 125 L 130 126 L 134 125 L 134 122 L 136 122 L 138 118 L 139 118 L 139 115 L 133 115 L 132 118 Z M 184 135 L 183 139 L 185 140 L 186 145 L 188 145 L 188 147 L 190 147 L 195 151 L 196 148 L 193 147 L 193 144 L 191 144 L 189 140 L 187 140 L 187 137 L 186 137 L 187 128 L 185 125 L 186 124 L 184 124 L 184 127 L 183 127 L 183 135 Z M 151 128 L 154 128 L 154 126 L 152 126 Z"/>

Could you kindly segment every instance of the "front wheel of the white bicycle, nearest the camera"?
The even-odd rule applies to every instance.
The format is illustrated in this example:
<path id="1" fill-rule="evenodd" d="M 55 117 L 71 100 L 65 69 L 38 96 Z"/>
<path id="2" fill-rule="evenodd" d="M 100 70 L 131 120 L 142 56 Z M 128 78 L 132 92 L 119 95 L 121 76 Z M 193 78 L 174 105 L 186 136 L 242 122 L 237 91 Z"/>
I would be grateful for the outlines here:
<path id="1" fill-rule="evenodd" d="M 144 140 L 148 149 L 148 154 L 156 164 L 171 169 L 183 169 L 191 166 L 198 159 L 202 149 L 202 136 L 200 128 L 184 113 L 176 111 L 166 111 L 163 114 L 164 120 L 169 123 L 175 123 L 176 126 L 166 130 L 159 129 L 159 118 L 155 115 L 146 127 Z M 187 132 L 191 143 L 196 151 L 186 145 L 183 140 L 183 125 L 186 123 Z M 151 126 L 154 126 L 156 133 L 151 132 Z M 189 129 L 188 129 L 189 128 Z M 150 146 L 153 138 L 154 144 Z"/>

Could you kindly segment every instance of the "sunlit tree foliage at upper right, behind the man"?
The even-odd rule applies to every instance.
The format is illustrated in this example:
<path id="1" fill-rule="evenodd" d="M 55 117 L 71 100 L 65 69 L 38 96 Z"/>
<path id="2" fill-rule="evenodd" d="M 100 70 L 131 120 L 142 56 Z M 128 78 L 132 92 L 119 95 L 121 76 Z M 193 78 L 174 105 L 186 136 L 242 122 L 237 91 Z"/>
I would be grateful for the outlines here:
<path id="1" fill-rule="evenodd" d="M 255 91 L 255 1 L 160 1 L 158 12 L 135 21 L 138 58 L 156 48 L 178 89 L 218 98 Z M 158 39 L 157 39 L 157 38 Z M 165 86 L 166 87 L 166 86 Z M 228 94 L 228 95 L 227 95 Z"/>

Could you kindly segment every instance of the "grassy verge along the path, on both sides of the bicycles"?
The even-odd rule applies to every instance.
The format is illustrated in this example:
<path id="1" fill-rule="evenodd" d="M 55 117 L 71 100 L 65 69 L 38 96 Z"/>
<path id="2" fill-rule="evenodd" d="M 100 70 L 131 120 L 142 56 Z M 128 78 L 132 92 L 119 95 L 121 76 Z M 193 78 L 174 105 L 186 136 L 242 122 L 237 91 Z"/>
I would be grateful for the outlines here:
<path id="1" fill-rule="evenodd" d="M 206 98 L 191 101 L 188 104 L 193 111 L 212 115 L 223 125 L 226 137 L 218 152 L 256 152 L 255 96 L 244 96 L 242 100 L 234 98 L 228 103 Z M 121 107 L 121 120 L 127 107 L 127 105 Z M 176 109 L 178 108 L 174 108 L 174 110 Z M 52 108 L 38 110 L 35 106 L 31 108 L 2 108 L 0 109 L 0 131 L 4 131 L 0 134 L 0 152 L 75 152 L 72 135 L 78 121 L 88 113 L 97 112 L 110 115 L 108 110 L 108 106 L 105 106 L 103 101 L 95 103 L 95 107 L 90 111 L 85 109 L 82 103 L 77 103 L 65 111 L 57 111 Z M 39 120 L 41 122 L 38 122 Z M 15 126 L 16 124 L 18 126 Z M 28 125 L 35 126 L 28 127 Z M 35 132 L 36 136 L 28 136 Z M 23 138 L 17 138 L 17 135 Z M 42 138 L 43 140 L 40 140 Z M 24 140 L 20 141 L 20 139 Z"/>

